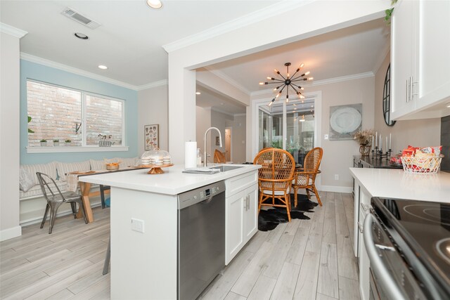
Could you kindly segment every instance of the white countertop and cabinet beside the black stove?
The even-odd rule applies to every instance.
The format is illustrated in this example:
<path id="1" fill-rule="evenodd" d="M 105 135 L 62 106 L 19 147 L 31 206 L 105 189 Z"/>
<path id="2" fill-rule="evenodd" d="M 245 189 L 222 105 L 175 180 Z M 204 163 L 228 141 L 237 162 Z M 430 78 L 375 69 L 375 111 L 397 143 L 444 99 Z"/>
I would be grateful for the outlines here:
<path id="1" fill-rule="evenodd" d="M 416 174 L 403 169 L 350 168 L 354 178 L 354 254 L 359 263 L 361 299 L 369 299 L 370 261 L 363 226 L 371 197 L 450 203 L 450 173 Z"/>

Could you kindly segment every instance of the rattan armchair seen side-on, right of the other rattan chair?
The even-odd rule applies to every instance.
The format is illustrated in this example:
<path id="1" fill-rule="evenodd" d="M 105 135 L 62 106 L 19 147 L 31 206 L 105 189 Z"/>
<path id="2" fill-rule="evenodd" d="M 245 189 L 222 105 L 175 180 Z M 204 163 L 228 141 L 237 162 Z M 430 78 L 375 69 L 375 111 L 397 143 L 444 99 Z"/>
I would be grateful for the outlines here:
<path id="1" fill-rule="evenodd" d="M 309 192 L 312 192 L 317 197 L 317 202 L 322 206 L 321 198 L 316 189 L 316 175 L 319 174 L 319 167 L 321 165 L 323 149 L 316 147 L 311 149 L 304 157 L 304 164 L 302 169 L 297 169 L 294 174 L 294 204 L 297 206 L 297 190 L 304 188 L 307 190 L 308 199 L 311 199 Z"/>

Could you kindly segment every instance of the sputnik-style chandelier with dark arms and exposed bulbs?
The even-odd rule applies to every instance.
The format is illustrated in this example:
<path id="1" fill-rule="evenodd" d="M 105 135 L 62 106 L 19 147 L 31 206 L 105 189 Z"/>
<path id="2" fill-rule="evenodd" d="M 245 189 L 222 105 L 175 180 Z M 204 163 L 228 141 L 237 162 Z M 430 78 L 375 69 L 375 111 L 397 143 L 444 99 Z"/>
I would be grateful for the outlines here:
<path id="1" fill-rule="evenodd" d="M 286 77 L 284 77 L 282 74 L 280 74 L 280 71 L 278 70 L 274 70 L 276 72 L 276 74 L 280 75 L 282 79 L 278 79 L 278 78 L 274 78 L 274 77 L 267 77 L 267 79 L 271 80 L 271 81 L 266 81 L 266 82 L 259 82 L 259 85 L 264 85 L 264 84 L 278 84 L 278 86 L 274 89 L 274 91 L 278 91 L 278 93 L 276 94 L 276 96 L 269 102 L 269 106 L 271 106 L 274 101 L 276 100 L 276 98 L 278 98 L 281 93 L 283 92 L 283 90 L 286 88 L 286 103 L 289 102 L 289 87 L 291 89 L 293 89 L 293 91 L 297 94 L 297 96 L 299 96 L 300 99 L 304 99 L 303 94 L 300 91 L 303 91 L 302 86 L 299 86 L 297 84 L 300 84 L 300 82 L 297 81 L 307 81 L 307 80 L 312 80 L 313 77 L 305 77 L 309 74 L 308 72 L 304 72 L 301 75 L 298 75 L 297 77 L 295 77 L 295 75 L 300 72 L 300 69 L 302 69 L 302 67 L 304 66 L 304 63 L 302 63 L 300 65 L 300 67 L 297 68 L 297 70 L 295 70 L 295 73 L 290 76 L 289 74 L 289 66 L 291 65 L 290 63 L 285 63 L 284 64 L 286 66 Z M 298 90 L 297 90 L 297 89 Z"/>

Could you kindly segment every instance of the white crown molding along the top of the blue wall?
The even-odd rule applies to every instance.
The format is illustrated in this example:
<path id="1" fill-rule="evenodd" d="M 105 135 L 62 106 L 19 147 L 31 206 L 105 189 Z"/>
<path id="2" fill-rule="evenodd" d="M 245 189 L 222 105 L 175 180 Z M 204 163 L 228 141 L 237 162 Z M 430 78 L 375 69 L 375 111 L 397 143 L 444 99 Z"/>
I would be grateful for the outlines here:
<path id="1" fill-rule="evenodd" d="M 81 75 L 81 76 L 84 76 L 84 77 L 89 77 L 91 79 L 96 79 L 96 80 L 99 80 L 99 81 L 103 81 L 103 82 L 106 82 L 108 84 L 115 84 L 116 86 L 122 86 L 122 87 L 124 87 L 126 89 L 131 89 L 131 90 L 137 91 L 137 88 L 138 88 L 137 86 L 134 86 L 132 84 L 126 84 L 126 83 L 124 83 L 122 81 L 118 81 L 118 80 L 115 80 L 115 79 L 110 79 L 108 77 L 104 77 L 104 76 L 97 75 L 97 74 L 94 74 L 94 73 L 91 73 L 91 72 L 87 72 L 87 71 L 84 71 L 84 70 L 77 69 L 76 67 L 70 67 L 68 65 L 63 65 L 62 63 L 56 63 L 56 62 L 51 61 L 51 60 L 46 60 L 45 58 L 39 58 L 37 56 L 32 56 L 31 54 L 28 54 L 28 53 L 20 52 L 20 58 L 23 59 L 23 60 L 30 61 L 32 63 L 39 63 L 40 65 L 45 65 L 47 67 L 53 67 L 55 69 L 66 71 L 66 72 L 70 72 L 72 74 L 77 74 L 77 75 Z"/>

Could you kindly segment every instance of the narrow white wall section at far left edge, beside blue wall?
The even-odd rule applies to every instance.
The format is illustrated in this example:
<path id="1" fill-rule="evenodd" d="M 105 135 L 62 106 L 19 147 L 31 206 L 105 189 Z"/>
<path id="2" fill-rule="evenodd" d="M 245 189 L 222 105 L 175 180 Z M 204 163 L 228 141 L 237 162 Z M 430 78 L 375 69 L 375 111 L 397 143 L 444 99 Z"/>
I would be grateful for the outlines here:
<path id="1" fill-rule="evenodd" d="M 19 226 L 20 37 L 0 32 L 0 240 Z M 22 34 L 22 36 L 25 33 Z"/>

